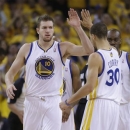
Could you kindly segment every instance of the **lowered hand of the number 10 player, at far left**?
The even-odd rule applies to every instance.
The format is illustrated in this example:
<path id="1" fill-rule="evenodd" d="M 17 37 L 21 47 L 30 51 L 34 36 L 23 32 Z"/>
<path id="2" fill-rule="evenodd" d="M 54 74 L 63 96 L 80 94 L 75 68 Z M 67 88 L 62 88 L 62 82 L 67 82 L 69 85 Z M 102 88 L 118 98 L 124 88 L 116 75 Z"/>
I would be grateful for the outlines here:
<path id="1" fill-rule="evenodd" d="M 6 89 L 6 94 L 10 99 L 14 99 L 14 91 L 16 91 L 17 89 L 15 88 L 15 86 L 13 84 L 11 84 L 10 86 L 7 87 Z"/>

